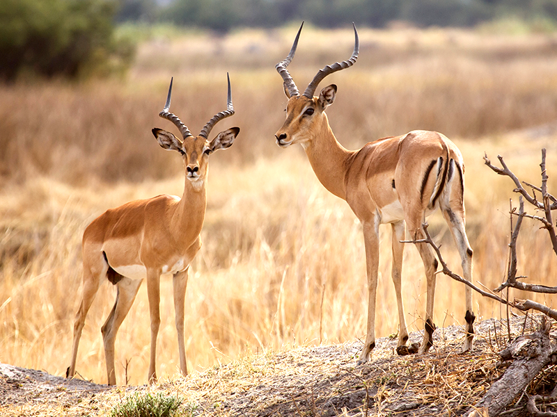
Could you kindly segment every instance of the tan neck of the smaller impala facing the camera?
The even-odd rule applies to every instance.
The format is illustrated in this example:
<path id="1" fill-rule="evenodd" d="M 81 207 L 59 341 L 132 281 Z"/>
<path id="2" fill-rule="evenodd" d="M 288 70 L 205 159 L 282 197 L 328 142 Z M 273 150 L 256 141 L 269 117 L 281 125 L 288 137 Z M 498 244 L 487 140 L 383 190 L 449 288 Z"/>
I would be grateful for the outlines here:
<path id="1" fill-rule="evenodd" d="M 180 231 L 180 236 L 177 238 L 189 240 L 189 237 L 197 237 L 201 234 L 207 207 L 205 188 L 207 177 L 203 179 L 203 183 L 192 183 L 189 179 L 185 179 L 185 181 L 184 194 L 176 207 L 172 222 L 177 226 L 180 225 L 175 228 Z"/>

